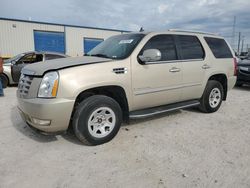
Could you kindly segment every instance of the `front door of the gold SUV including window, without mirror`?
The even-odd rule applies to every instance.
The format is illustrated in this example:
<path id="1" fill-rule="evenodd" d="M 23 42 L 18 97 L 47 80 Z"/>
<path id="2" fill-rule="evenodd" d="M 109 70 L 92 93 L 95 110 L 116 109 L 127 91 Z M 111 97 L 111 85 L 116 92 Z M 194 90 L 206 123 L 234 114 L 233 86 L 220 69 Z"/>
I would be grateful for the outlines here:
<path id="1" fill-rule="evenodd" d="M 133 110 L 178 102 L 181 96 L 182 64 L 172 35 L 153 36 L 138 55 L 147 49 L 160 50 L 161 60 L 142 64 L 132 58 Z"/>

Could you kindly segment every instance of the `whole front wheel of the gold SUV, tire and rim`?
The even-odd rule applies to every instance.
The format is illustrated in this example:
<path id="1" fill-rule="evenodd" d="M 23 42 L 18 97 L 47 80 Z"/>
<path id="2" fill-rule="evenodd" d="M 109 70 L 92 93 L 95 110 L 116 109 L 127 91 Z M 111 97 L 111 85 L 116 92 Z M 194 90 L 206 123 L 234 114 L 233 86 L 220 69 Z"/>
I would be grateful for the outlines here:
<path id="1" fill-rule="evenodd" d="M 122 123 L 120 105 L 112 98 L 94 95 L 82 101 L 73 115 L 76 137 L 86 145 L 100 145 L 112 140 Z"/>

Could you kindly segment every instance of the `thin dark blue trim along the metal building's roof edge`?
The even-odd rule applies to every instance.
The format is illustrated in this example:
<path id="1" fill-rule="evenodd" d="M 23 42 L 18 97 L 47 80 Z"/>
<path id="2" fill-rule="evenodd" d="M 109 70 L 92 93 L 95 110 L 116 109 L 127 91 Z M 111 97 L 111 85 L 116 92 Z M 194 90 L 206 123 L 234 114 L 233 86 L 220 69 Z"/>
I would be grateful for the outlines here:
<path id="1" fill-rule="evenodd" d="M 51 22 L 30 21 L 30 20 L 22 20 L 22 19 L 14 19 L 14 18 L 0 17 L 0 20 L 26 22 L 26 23 L 36 23 L 36 24 L 46 24 L 46 25 L 57 25 L 57 26 L 63 26 L 63 27 L 77 27 L 77 28 L 85 28 L 85 29 L 97 29 L 97 30 L 105 30 L 105 31 L 131 32 L 131 31 L 119 30 L 119 29 L 109 29 L 109 28 L 101 28 L 101 27 L 89 27 L 89 26 L 59 24 L 59 23 L 51 23 Z"/>

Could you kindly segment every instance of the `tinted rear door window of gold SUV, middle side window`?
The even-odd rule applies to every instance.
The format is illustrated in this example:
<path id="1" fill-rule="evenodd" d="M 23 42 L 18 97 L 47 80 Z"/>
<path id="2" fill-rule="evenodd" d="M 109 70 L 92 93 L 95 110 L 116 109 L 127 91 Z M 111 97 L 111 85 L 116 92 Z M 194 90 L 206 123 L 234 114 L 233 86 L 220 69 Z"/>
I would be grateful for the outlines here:
<path id="1" fill-rule="evenodd" d="M 178 35 L 182 59 L 203 59 L 204 50 L 196 36 Z"/>

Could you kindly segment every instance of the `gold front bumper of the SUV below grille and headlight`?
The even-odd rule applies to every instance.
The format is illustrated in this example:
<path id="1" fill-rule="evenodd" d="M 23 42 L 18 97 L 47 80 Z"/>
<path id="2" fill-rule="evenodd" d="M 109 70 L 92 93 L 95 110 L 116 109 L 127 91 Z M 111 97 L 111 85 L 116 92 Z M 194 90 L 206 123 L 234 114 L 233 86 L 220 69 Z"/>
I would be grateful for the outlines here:
<path id="1" fill-rule="evenodd" d="M 28 125 L 47 133 L 68 129 L 74 100 L 19 97 L 17 99 L 20 115 Z"/>

